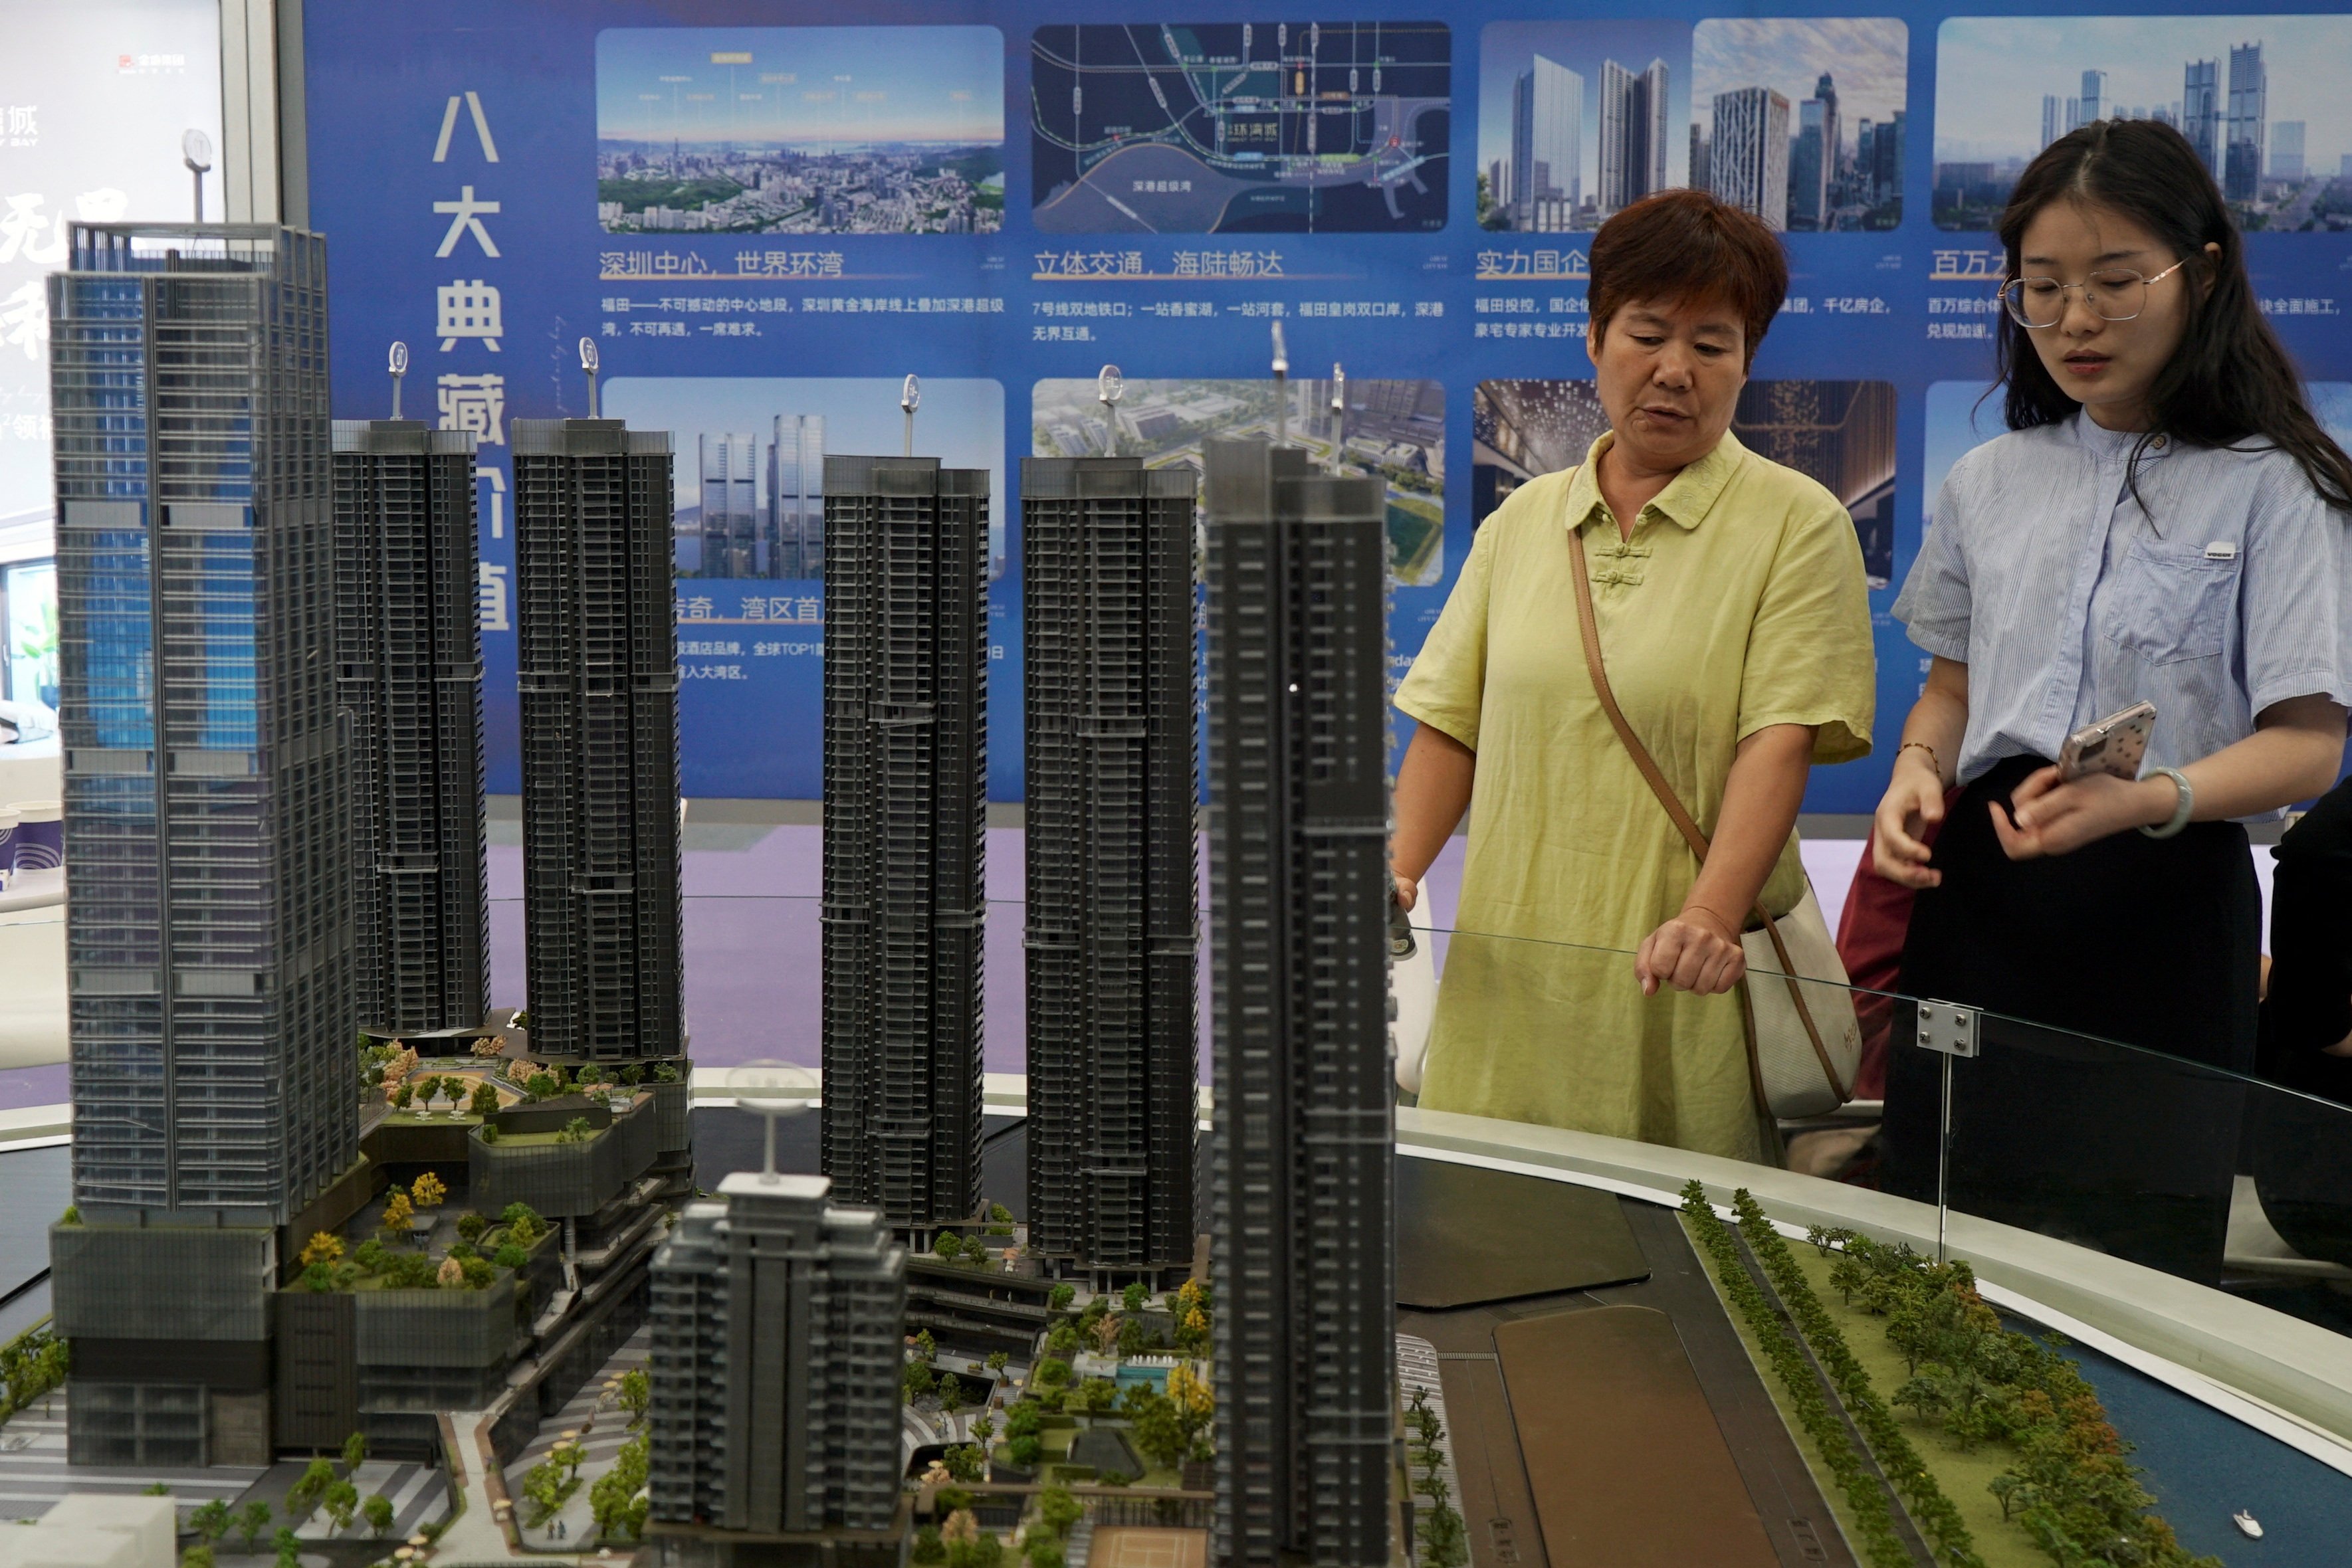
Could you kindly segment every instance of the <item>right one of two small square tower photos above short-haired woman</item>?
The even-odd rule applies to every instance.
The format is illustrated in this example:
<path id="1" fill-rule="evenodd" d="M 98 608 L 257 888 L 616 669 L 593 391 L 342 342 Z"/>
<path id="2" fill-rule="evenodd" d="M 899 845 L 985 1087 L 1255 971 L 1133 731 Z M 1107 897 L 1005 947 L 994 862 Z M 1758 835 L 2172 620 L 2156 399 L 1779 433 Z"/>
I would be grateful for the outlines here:
<path id="1" fill-rule="evenodd" d="M 1907 54 L 1896 16 L 1700 21 L 1691 183 L 1780 230 L 1898 226 Z"/>

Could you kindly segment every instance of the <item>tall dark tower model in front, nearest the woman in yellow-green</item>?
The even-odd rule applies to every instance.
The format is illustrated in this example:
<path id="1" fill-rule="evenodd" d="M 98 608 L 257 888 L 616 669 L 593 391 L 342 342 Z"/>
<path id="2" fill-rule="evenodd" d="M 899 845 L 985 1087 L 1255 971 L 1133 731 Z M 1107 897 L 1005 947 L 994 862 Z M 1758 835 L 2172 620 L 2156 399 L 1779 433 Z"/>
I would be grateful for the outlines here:
<path id="1" fill-rule="evenodd" d="M 1388 534 L 1207 447 L 1216 1561 L 1390 1561 Z"/>

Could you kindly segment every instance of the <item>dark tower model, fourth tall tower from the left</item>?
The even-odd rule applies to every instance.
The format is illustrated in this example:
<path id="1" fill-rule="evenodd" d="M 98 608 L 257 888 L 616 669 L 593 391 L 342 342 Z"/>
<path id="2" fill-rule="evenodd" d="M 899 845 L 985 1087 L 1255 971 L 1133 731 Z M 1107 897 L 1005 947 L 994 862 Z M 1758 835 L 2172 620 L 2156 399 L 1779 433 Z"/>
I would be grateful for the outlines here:
<path id="1" fill-rule="evenodd" d="M 823 1161 L 922 1239 L 981 1208 L 988 470 L 826 458 Z"/>

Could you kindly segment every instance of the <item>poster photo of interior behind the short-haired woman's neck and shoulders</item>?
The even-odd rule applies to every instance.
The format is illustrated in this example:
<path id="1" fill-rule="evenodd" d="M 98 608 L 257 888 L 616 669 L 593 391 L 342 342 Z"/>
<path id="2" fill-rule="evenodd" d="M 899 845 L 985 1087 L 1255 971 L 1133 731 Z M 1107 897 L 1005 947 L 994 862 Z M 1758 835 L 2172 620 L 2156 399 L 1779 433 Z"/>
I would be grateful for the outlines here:
<path id="1" fill-rule="evenodd" d="M 1609 428 L 1592 381 L 1479 381 L 1470 402 L 1470 527 L 1529 480 L 1585 461 Z M 1795 468 L 1853 517 L 1863 576 L 1896 567 L 1896 388 L 1891 381 L 1750 381 L 1731 416 L 1748 451 Z"/>

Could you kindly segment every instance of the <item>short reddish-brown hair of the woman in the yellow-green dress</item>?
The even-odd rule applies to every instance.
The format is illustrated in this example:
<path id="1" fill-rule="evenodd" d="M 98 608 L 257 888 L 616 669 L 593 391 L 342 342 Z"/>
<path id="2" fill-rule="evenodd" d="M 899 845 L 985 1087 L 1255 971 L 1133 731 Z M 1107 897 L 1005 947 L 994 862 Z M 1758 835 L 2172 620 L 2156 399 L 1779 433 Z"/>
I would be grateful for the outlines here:
<path id="1" fill-rule="evenodd" d="M 1661 190 L 1592 235 L 1592 331 L 1637 301 L 1724 303 L 1745 327 L 1748 362 L 1788 299 L 1788 256 L 1752 212 L 1708 190 Z"/>

